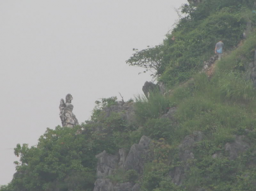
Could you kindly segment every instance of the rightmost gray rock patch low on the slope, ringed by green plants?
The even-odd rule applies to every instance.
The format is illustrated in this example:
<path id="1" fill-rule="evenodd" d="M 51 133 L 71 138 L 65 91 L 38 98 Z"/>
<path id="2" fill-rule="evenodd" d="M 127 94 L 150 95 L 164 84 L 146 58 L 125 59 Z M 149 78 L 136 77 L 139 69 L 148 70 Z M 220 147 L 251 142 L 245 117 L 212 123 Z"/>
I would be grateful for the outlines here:
<path id="1" fill-rule="evenodd" d="M 233 135 L 234 142 L 225 144 L 225 151 L 229 152 L 229 159 L 236 159 L 239 154 L 245 152 L 249 148 L 249 144 L 244 141 L 244 135 Z"/>

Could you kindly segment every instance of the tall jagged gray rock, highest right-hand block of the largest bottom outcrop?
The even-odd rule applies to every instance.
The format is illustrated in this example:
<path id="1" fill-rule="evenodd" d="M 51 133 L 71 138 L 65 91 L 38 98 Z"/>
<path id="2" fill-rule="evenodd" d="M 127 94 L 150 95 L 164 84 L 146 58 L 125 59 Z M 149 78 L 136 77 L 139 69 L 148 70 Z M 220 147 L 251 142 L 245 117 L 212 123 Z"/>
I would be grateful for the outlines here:
<path id="1" fill-rule="evenodd" d="M 144 161 L 146 160 L 149 151 L 149 145 L 152 139 L 142 136 L 139 144 L 133 144 L 124 162 L 125 170 L 136 170 L 138 173 L 143 172 Z"/>

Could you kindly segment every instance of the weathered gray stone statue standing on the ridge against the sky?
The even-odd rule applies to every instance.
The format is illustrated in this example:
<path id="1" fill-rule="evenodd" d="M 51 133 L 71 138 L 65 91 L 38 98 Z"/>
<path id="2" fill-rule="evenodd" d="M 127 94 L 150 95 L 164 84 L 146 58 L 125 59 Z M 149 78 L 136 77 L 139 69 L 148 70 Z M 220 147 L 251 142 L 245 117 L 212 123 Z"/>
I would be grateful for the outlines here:
<path id="1" fill-rule="evenodd" d="M 73 105 L 71 104 L 71 101 L 73 100 L 73 97 L 71 94 L 66 95 L 66 103 L 64 102 L 63 99 L 60 100 L 60 105 L 59 105 L 59 117 L 62 123 L 62 126 L 67 126 L 67 127 L 73 127 L 75 125 L 78 125 L 78 121 L 73 114 Z"/>

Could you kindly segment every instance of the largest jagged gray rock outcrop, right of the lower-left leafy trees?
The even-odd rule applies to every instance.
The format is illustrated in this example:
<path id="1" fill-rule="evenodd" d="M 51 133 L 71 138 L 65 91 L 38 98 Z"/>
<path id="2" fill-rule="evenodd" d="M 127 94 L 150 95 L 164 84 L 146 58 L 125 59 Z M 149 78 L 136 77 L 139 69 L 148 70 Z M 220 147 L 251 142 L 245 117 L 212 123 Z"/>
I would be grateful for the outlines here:
<path id="1" fill-rule="evenodd" d="M 107 176 L 112 175 L 115 169 L 136 170 L 142 173 L 151 141 L 150 138 L 142 136 L 139 144 L 133 144 L 128 154 L 124 149 L 120 149 L 118 155 L 111 155 L 106 151 L 96 155 L 98 179 L 95 181 L 94 191 L 139 191 L 139 184 L 113 184 Z"/>

